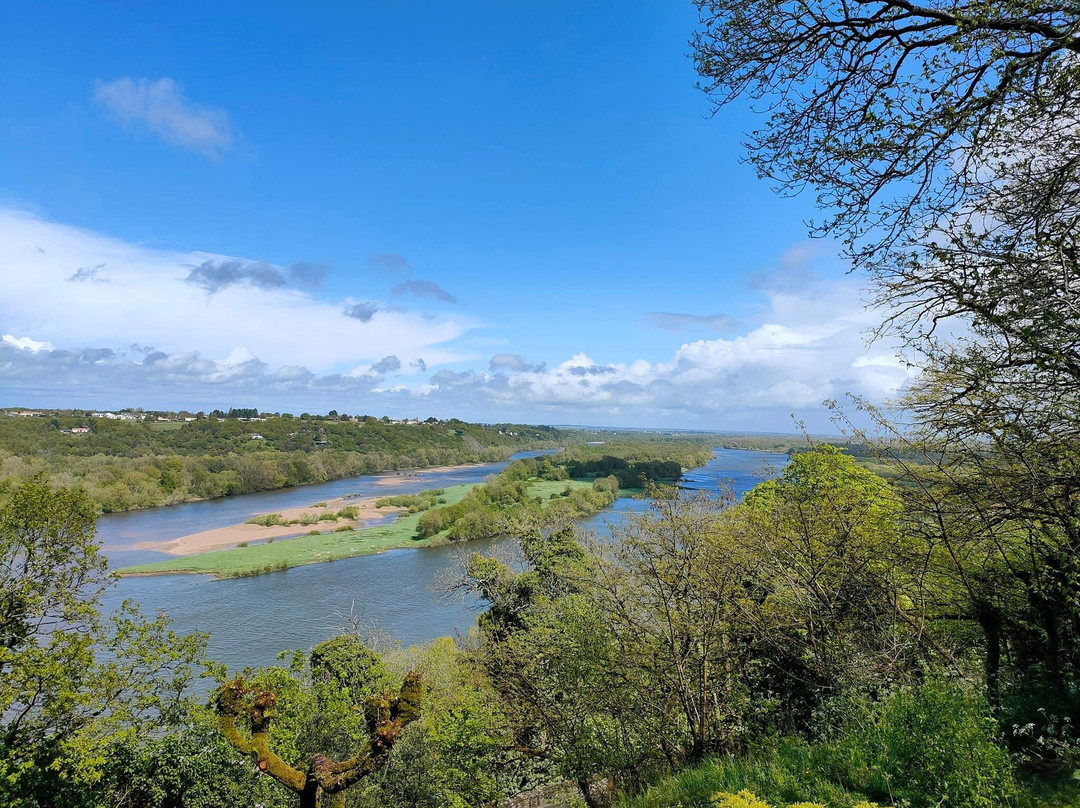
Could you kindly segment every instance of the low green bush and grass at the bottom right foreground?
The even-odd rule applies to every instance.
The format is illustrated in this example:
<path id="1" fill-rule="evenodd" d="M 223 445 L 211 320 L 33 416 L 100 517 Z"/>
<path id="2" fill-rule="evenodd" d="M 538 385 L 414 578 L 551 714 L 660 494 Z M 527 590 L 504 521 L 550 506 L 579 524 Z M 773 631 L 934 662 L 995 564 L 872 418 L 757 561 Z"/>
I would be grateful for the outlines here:
<path id="1" fill-rule="evenodd" d="M 623 806 L 1048 805 L 1021 793 L 997 723 L 973 688 L 930 679 L 877 703 L 847 701 L 842 706 L 849 717 L 826 740 L 785 739 L 759 745 L 745 757 L 708 760 L 661 781 Z M 1067 804 L 1072 803 L 1053 803 Z"/>

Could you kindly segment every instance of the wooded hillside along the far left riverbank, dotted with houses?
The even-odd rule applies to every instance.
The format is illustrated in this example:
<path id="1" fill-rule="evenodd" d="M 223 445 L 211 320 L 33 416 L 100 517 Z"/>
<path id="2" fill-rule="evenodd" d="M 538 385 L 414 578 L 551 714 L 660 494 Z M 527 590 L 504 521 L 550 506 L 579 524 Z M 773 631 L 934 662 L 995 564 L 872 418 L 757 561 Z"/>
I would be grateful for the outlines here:
<path id="1" fill-rule="evenodd" d="M 106 512 L 125 511 L 395 469 L 505 460 L 566 437 L 546 427 L 375 419 L 97 419 L 87 434 L 68 434 L 66 428 L 40 418 L 0 418 L 0 497 L 19 481 L 44 474 L 55 485 L 85 488 Z"/>

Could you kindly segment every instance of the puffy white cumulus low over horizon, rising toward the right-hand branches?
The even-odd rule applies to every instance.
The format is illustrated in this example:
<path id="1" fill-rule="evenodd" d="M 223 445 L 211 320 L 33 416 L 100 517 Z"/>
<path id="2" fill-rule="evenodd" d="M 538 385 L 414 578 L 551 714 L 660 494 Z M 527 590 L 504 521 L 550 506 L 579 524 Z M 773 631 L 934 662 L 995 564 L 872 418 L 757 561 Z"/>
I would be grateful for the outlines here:
<path id="1" fill-rule="evenodd" d="M 487 373 L 443 371 L 418 390 L 431 401 L 477 401 L 562 414 L 563 422 L 623 421 L 775 428 L 787 415 L 815 415 L 826 399 L 851 392 L 882 402 L 916 368 L 892 347 L 867 349 L 875 317 L 850 279 L 818 284 L 809 298 L 770 293 L 764 322 L 730 338 L 679 346 L 666 360 L 600 362 L 585 352 L 553 367 L 517 354 L 492 358 Z M 502 373 L 502 371 L 509 371 Z"/>

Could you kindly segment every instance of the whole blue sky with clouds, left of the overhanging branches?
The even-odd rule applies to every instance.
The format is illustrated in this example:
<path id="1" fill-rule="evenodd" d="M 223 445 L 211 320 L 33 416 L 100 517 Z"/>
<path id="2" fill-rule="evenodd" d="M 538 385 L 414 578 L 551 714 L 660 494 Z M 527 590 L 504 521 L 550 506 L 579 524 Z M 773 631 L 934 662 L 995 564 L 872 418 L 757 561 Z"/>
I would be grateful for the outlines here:
<path id="1" fill-rule="evenodd" d="M 910 377 L 687 2 L 9 3 L 0 406 L 788 432 Z"/>

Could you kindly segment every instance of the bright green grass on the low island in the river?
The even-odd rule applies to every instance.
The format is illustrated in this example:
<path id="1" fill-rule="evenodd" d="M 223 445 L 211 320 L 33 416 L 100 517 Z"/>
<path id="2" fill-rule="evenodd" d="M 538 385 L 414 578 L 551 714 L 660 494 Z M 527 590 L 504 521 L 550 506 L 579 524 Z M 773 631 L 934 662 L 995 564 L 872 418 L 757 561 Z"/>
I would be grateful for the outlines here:
<path id="1" fill-rule="evenodd" d="M 552 494 L 562 491 L 567 485 L 573 488 L 590 488 L 592 481 L 532 481 L 529 483 L 529 496 L 541 497 L 546 502 Z M 443 495 L 446 503 L 441 507 L 445 508 L 461 501 L 472 487 L 473 485 L 455 485 L 446 488 L 446 493 Z M 625 494 L 626 491 L 623 491 L 623 495 Z M 411 513 L 378 527 L 279 539 L 270 543 L 251 544 L 231 550 L 200 553 L 185 558 L 139 564 L 124 567 L 118 571 L 121 575 L 205 573 L 216 575 L 218 578 L 240 578 L 288 569 L 305 564 L 370 555 L 399 548 L 434 547 L 445 543 L 446 538 L 443 534 L 428 539 L 416 538 L 416 526 L 420 516 L 421 513 Z"/>

